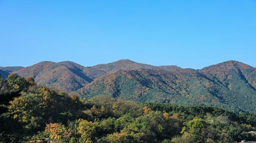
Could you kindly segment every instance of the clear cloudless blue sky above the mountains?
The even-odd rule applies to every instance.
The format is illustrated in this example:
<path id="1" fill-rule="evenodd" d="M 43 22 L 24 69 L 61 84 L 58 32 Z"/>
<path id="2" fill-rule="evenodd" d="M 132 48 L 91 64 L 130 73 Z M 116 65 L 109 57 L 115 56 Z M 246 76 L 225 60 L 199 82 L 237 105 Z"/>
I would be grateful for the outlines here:
<path id="1" fill-rule="evenodd" d="M 256 0 L 0 0 L 0 66 L 256 67 Z"/>

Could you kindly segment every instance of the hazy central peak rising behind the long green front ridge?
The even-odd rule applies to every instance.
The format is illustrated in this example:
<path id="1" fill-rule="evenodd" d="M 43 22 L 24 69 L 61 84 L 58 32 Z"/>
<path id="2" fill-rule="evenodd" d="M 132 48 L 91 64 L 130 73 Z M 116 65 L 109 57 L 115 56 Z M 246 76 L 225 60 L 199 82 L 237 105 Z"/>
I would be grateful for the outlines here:
<path id="1" fill-rule="evenodd" d="M 180 67 L 178 66 L 152 66 L 148 64 L 136 63 L 131 60 L 118 60 L 116 62 L 108 63 L 108 64 L 99 64 L 96 66 L 92 66 L 92 68 L 96 68 L 98 70 L 105 71 L 107 73 L 117 71 L 117 70 L 138 70 L 138 69 L 163 69 L 163 70 L 172 70 Z"/>

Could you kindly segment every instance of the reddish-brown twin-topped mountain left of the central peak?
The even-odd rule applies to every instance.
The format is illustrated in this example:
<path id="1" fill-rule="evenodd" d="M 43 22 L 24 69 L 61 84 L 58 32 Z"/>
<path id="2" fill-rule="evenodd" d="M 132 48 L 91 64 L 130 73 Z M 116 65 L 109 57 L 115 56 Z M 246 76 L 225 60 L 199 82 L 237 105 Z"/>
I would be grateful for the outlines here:
<path id="1" fill-rule="evenodd" d="M 15 71 L 22 77 L 31 76 L 36 83 L 50 85 L 64 91 L 75 91 L 105 72 L 94 68 L 86 68 L 74 62 L 40 62 L 33 66 Z"/>

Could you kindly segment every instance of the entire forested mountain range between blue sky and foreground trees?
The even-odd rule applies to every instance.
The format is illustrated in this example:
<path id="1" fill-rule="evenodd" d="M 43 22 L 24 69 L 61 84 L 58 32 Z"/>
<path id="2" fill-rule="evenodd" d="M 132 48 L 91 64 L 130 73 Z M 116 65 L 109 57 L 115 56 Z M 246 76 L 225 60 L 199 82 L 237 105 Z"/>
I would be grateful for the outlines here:
<path id="1" fill-rule="evenodd" d="M 38 84 L 85 99 L 110 95 L 137 102 L 208 105 L 256 113 L 256 68 L 237 61 L 201 70 L 152 66 L 131 60 L 92 67 L 66 61 L 40 62 L 15 70 L 0 68 L 2 76 L 10 72 L 22 77 L 32 76 Z"/>

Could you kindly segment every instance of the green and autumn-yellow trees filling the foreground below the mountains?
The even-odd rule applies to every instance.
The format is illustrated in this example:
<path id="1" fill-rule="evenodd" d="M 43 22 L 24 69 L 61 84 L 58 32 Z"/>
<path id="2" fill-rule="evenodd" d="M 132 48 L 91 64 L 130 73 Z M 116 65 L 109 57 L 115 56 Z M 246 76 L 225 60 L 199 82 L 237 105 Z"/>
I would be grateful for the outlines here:
<path id="1" fill-rule="evenodd" d="M 255 141 L 256 115 L 217 107 L 88 100 L 36 85 L 32 77 L 0 77 L 3 143 L 234 143 Z"/>

